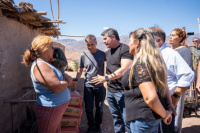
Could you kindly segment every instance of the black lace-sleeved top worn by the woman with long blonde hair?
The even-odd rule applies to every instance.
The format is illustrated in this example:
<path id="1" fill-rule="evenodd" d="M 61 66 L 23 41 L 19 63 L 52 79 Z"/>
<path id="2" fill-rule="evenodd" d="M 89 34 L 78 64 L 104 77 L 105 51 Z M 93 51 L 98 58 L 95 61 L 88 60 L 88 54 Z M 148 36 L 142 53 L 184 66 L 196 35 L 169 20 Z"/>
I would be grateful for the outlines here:
<path id="1" fill-rule="evenodd" d="M 138 83 L 152 81 L 146 66 L 139 62 L 135 64 L 132 77 L 132 89 L 129 87 L 129 73 L 130 69 L 125 72 L 122 78 L 122 85 L 125 89 L 126 119 L 128 121 L 136 119 L 159 119 L 160 116 L 145 103 L 140 88 L 138 87 Z M 159 96 L 159 99 L 162 104 L 165 104 L 163 98 Z"/>

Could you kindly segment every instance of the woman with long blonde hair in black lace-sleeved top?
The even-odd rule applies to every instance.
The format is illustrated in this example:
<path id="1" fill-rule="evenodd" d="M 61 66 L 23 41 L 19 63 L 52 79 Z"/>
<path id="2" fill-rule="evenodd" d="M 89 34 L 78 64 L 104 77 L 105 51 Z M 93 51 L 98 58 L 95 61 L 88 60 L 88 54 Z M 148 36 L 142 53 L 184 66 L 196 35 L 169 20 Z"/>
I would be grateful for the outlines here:
<path id="1" fill-rule="evenodd" d="M 134 61 L 122 78 L 126 119 L 130 121 L 132 133 L 158 132 L 161 120 L 170 124 L 172 118 L 163 106 L 165 97 L 170 96 L 165 63 L 146 29 L 131 32 L 129 52 L 134 55 Z"/>

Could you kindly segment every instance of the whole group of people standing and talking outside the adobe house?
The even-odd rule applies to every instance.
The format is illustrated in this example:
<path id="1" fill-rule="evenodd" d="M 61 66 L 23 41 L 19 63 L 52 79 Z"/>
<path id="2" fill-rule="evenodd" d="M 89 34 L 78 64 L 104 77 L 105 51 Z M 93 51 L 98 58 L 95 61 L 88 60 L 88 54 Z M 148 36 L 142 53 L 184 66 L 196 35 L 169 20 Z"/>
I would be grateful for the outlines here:
<path id="1" fill-rule="evenodd" d="M 185 30 L 176 28 L 171 32 L 171 48 L 165 45 L 165 32 L 158 27 L 131 32 L 128 45 L 120 42 L 115 29 L 106 29 L 101 35 L 108 50 L 97 49 L 96 37 L 87 35 L 88 51 L 81 54 L 76 74 L 79 80 L 85 70 L 87 133 L 102 133 L 105 98 L 115 133 L 181 133 L 185 92 L 195 79 Z M 62 115 L 71 99 L 68 87 L 74 91 L 78 82 L 65 73 L 62 66 L 66 58 L 52 43 L 50 37 L 39 35 L 23 55 L 26 66 L 32 63 L 39 133 L 60 133 Z M 199 38 L 192 43 L 200 48 Z M 61 63 L 59 57 L 65 62 Z M 196 89 L 200 92 L 200 65 L 197 70 Z"/>

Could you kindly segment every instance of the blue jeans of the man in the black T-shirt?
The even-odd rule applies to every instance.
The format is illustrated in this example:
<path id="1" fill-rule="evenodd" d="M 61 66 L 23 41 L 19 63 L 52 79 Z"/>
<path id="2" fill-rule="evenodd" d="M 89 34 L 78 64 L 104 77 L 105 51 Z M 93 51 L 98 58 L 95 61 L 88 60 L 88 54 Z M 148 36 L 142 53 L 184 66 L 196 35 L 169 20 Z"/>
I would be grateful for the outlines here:
<path id="1" fill-rule="evenodd" d="M 110 112 L 113 116 L 115 133 L 131 133 L 130 125 L 126 121 L 126 110 L 124 103 L 124 92 L 109 92 L 107 91 L 107 101 Z"/>

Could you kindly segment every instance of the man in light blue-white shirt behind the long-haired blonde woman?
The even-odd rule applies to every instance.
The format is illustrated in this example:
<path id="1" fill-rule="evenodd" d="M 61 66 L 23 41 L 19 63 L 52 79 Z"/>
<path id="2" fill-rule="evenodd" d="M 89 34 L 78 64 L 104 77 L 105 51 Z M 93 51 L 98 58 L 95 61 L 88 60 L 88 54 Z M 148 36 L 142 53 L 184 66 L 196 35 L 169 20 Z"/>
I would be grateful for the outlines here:
<path id="1" fill-rule="evenodd" d="M 151 27 L 151 33 L 155 37 L 155 40 L 160 47 L 163 59 L 167 66 L 167 82 L 171 93 L 172 104 L 168 105 L 168 109 L 173 109 L 173 106 L 177 106 L 180 100 L 180 96 L 185 93 L 194 81 L 194 72 L 185 62 L 185 60 L 179 55 L 178 52 L 168 48 L 165 42 L 165 32 L 158 27 Z M 183 103 L 184 104 L 184 103 Z M 184 105 L 183 105 L 184 106 Z M 182 107 L 183 107 L 182 106 Z M 177 116 L 175 121 L 175 115 L 170 125 L 162 123 L 162 129 L 164 133 L 180 133 L 182 128 L 182 114 L 183 108 L 180 106 L 176 107 Z M 176 114 L 174 112 L 174 114 Z"/>

